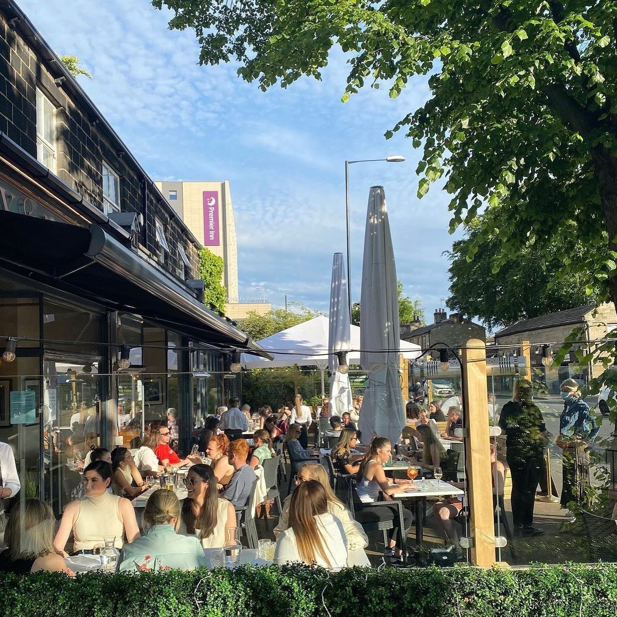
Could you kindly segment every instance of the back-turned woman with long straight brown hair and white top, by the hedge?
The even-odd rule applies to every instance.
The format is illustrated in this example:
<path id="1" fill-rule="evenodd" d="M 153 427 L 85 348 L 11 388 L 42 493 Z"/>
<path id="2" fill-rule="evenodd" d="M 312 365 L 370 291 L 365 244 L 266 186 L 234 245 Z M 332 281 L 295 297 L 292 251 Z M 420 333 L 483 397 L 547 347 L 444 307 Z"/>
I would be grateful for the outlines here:
<path id="1" fill-rule="evenodd" d="M 328 512 L 328 496 L 317 480 L 306 480 L 289 505 L 289 528 L 276 540 L 274 563 L 300 561 L 323 568 L 347 566 L 347 539 L 341 521 Z"/>

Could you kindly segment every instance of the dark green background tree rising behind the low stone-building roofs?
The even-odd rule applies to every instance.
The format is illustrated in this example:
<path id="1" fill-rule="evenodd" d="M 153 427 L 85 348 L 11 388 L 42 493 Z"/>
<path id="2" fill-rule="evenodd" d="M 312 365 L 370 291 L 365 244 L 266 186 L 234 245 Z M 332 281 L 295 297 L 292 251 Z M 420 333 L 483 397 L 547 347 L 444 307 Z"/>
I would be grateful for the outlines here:
<path id="1" fill-rule="evenodd" d="M 538 254 L 536 244 L 530 242 L 517 259 L 510 259 L 499 235 L 491 234 L 479 244 L 473 259 L 468 259 L 480 230 L 481 221 L 474 220 L 467 226 L 466 237 L 447 252 L 450 297 L 446 304 L 450 309 L 477 317 L 492 329 L 597 300 L 597 286 L 586 294 L 581 273 L 569 273 L 552 246 Z M 584 247 L 578 244 L 573 251 L 581 254 Z M 495 265 L 500 263 L 498 270 Z"/>

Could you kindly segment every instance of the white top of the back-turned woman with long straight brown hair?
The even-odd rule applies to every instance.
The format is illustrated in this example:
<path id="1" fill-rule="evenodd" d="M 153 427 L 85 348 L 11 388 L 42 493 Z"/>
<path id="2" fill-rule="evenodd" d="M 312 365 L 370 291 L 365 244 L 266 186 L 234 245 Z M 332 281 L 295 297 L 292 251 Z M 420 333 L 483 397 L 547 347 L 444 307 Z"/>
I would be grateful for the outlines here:
<path id="1" fill-rule="evenodd" d="M 315 521 L 317 522 L 322 545 L 330 561 L 328 565 L 320 553 L 316 551 L 315 563 L 322 568 L 346 568 L 348 564 L 347 539 L 341 521 L 329 512 L 315 516 Z M 288 561 L 302 562 L 296 543 L 296 534 L 294 534 L 294 530 L 291 527 L 285 529 L 278 537 L 278 540 L 276 540 L 274 553 L 274 563 L 276 565 L 283 565 L 288 563 Z"/>

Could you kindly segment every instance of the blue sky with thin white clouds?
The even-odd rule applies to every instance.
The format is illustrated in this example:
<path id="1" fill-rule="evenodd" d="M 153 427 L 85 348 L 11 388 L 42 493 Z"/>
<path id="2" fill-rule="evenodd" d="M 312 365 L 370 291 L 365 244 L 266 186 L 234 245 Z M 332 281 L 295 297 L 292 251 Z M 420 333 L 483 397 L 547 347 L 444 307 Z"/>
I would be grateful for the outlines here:
<path id="1" fill-rule="evenodd" d="M 328 311 L 334 252 L 346 252 L 345 160 L 402 154 L 404 163 L 350 165 L 352 302 L 360 299 L 368 191 L 386 194 L 397 277 L 427 321 L 445 307 L 452 246 L 448 196 L 416 197 L 419 152 L 384 133 L 428 98 L 426 78 L 397 99 L 365 88 L 341 103 L 346 58 L 333 51 L 322 80 L 266 93 L 237 65 L 199 66 L 192 30 L 148 0 L 20 0 L 59 55 L 92 75 L 81 86 L 153 180 L 229 180 L 238 234 L 239 295 Z"/>

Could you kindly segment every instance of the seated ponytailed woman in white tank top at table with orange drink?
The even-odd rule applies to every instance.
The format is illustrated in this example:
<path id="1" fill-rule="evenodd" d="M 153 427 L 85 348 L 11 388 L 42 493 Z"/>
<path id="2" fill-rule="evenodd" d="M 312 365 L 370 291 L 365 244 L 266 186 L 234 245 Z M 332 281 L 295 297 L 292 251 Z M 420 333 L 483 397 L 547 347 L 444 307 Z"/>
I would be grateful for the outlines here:
<path id="1" fill-rule="evenodd" d="M 357 492 L 360 501 L 370 503 L 375 501 L 391 501 L 392 493 L 400 491 L 398 486 L 390 486 L 390 480 L 386 478 L 383 464 L 389 460 L 392 454 L 392 445 L 385 437 L 375 437 L 371 441 L 368 450 L 360 463 L 360 482 L 358 482 Z M 409 480 L 395 479 L 395 484 L 408 485 Z M 403 563 L 401 546 L 405 544 L 408 530 L 412 526 L 412 513 L 405 509 L 403 510 L 403 526 L 404 529 L 399 529 L 400 519 L 397 508 L 389 506 L 379 506 L 360 510 L 357 513 L 356 519 L 362 523 L 376 521 L 392 521 L 394 528 L 389 531 L 389 545 L 386 548 L 385 557 L 394 565 Z M 401 537 L 401 544 L 397 547 L 397 535 Z"/>

